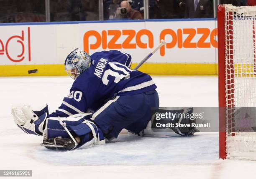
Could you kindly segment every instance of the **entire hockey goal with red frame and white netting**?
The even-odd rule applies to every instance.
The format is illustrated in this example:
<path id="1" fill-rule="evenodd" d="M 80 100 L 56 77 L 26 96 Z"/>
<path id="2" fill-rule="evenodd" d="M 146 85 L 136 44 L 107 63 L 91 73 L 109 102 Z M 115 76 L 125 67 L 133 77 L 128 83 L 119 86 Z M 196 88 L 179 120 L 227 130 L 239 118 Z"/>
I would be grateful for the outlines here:
<path id="1" fill-rule="evenodd" d="M 253 108 L 256 107 L 255 20 L 256 6 L 218 6 L 219 147 L 222 159 L 256 159 L 253 128 L 256 126 Z"/>

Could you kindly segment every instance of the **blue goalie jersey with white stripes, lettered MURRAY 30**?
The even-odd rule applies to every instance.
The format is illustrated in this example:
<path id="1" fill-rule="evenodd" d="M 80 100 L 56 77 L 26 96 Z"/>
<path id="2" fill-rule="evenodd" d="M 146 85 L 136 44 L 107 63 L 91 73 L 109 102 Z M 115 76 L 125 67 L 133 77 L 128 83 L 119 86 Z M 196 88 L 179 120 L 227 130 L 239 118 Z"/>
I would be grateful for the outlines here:
<path id="1" fill-rule="evenodd" d="M 152 78 L 131 70 L 131 55 L 117 50 L 96 52 L 92 64 L 74 81 L 69 97 L 65 97 L 56 112 L 48 117 L 68 117 L 96 111 L 105 102 L 121 95 L 133 95 L 156 89 Z"/>

